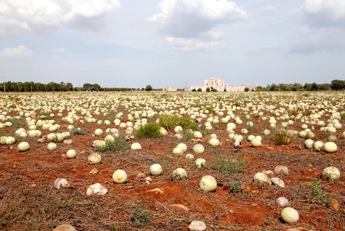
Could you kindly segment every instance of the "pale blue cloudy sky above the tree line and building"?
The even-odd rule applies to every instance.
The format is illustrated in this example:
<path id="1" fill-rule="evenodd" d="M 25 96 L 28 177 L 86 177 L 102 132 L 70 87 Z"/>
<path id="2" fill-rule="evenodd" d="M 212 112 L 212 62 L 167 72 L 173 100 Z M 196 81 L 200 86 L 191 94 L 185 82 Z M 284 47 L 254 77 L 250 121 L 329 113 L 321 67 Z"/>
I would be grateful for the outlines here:
<path id="1" fill-rule="evenodd" d="M 0 81 L 345 79 L 345 0 L 0 0 Z"/>

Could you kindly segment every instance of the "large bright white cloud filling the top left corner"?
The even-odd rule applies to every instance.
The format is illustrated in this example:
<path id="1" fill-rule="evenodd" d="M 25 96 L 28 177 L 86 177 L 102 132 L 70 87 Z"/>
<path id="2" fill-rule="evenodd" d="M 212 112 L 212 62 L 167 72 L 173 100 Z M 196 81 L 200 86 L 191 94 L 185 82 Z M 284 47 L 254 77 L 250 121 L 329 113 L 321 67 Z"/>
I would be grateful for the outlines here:
<path id="1" fill-rule="evenodd" d="M 0 34 L 79 26 L 120 7 L 118 0 L 0 0 Z"/>

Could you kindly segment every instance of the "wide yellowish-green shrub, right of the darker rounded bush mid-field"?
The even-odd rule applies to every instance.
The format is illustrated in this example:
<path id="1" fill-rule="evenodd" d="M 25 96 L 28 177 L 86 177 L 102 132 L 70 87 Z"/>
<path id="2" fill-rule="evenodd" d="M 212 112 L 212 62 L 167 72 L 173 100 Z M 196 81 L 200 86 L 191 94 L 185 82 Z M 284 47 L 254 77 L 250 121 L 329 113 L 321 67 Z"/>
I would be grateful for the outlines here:
<path id="1" fill-rule="evenodd" d="M 177 115 L 163 114 L 159 117 L 159 124 L 167 130 L 173 130 L 176 126 L 181 126 L 184 130 L 191 129 L 199 131 L 198 125 L 187 117 L 179 117 Z"/>

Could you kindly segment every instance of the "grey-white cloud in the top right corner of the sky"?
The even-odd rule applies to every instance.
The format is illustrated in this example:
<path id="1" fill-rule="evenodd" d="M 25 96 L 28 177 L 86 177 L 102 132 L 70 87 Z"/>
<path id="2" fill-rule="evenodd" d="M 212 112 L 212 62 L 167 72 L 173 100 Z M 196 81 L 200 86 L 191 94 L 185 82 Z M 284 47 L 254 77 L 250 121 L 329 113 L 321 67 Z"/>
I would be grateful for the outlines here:
<path id="1" fill-rule="evenodd" d="M 305 0 L 290 15 L 300 20 L 297 31 L 302 35 L 291 53 L 344 52 L 345 0 Z"/>

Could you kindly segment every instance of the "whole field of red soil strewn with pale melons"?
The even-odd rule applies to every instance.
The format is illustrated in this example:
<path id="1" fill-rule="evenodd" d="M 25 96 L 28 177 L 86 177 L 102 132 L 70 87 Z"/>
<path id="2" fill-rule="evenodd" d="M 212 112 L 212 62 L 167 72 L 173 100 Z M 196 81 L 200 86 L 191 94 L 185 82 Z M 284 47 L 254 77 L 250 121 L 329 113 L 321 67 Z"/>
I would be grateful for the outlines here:
<path id="1" fill-rule="evenodd" d="M 345 230 L 344 92 L 0 99 L 0 230 Z"/>

